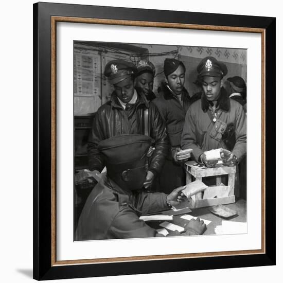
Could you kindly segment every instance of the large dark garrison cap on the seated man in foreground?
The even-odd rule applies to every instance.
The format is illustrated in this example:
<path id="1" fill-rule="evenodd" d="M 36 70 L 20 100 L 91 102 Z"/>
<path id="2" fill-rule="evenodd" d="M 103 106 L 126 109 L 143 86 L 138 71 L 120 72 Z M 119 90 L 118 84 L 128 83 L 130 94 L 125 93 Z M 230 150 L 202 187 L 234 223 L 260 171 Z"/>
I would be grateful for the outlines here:
<path id="1" fill-rule="evenodd" d="M 100 141 L 98 149 L 103 154 L 106 166 L 137 164 L 146 161 L 151 146 L 151 137 L 147 135 L 116 135 Z"/>

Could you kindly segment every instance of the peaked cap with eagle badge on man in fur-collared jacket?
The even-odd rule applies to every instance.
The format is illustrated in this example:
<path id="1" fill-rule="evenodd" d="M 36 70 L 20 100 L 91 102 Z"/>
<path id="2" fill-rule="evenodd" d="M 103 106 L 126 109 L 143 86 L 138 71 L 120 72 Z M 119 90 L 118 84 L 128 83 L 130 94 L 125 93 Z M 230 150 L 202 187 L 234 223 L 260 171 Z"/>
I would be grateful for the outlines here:
<path id="1" fill-rule="evenodd" d="M 208 56 L 201 60 L 197 67 L 200 77 L 224 77 L 227 75 L 227 67 L 224 63 L 217 61 L 214 57 Z"/>

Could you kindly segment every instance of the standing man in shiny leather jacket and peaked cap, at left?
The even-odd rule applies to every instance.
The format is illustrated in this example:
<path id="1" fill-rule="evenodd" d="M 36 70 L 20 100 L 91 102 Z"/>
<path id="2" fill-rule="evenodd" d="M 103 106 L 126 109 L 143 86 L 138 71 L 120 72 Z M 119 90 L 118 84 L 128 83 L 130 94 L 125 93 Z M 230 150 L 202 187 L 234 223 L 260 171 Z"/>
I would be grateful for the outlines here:
<path id="1" fill-rule="evenodd" d="M 136 71 L 136 66 L 124 59 L 112 60 L 105 66 L 104 75 L 113 84 L 114 91 L 110 100 L 96 112 L 87 154 L 89 169 L 97 174 L 105 166 L 98 148 L 101 140 L 120 134 L 149 135 L 152 147 L 155 148 L 144 180 L 144 185 L 149 188 L 153 187 L 155 176 L 164 165 L 168 138 L 164 121 L 156 106 L 148 102 L 143 92 L 135 89 Z"/>

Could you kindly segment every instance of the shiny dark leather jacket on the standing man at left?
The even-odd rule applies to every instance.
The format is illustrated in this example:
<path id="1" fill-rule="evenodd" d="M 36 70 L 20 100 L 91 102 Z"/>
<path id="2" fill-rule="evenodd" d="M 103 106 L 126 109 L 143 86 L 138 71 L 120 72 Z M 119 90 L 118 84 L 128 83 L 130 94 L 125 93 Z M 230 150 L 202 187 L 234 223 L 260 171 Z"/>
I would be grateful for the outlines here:
<path id="1" fill-rule="evenodd" d="M 98 143 L 120 134 L 145 134 L 145 109 L 148 109 L 148 130 L 155 150 L 149 165 L 153 173 L 160 173 L 168 152 L 168 137 L 165 123 L 152 102 L 138 93 L 137 102 L 129 110 L 124 110 L 118 102 L 115 92 L 110 101 L 103 104 L 95 114 L 92 131 L 87 145 L 89 169 L 91 171 L 104 168 L 103 156 L 98 150 Z"/>

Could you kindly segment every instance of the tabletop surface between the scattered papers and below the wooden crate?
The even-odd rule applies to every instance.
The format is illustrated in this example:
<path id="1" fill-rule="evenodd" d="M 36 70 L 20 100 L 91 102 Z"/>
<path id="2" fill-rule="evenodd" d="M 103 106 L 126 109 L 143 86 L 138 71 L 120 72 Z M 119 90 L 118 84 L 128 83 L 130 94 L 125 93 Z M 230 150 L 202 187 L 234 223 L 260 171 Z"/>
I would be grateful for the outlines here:
<path id="1" fill-rule="evenodd" d="M 233 210 L 236 210 L 238 215 L 231 217 L 231 218 L 222 218 L 222 217 L 219 217 L 219 216 L 211 213 L 208 210 L 209 206 L 192 209 L 192 211 L 190 213 L 187 213 L 187 214 L 194 216 L 194 217 L 199 217 L 199 218 L 211 221 L 211 223 L 209 223 L 207 225 L 207 229 L 204 232 L 204 235 L 215 234 L 215 227 L 218 226 L 218 225 L 221 225 L 222 220 L 236 221 L 236 222 L 246 222 L 246 201 L 240 199 L 240 200 L 237 200 L 236 203 L 224 204 L 224 206 L 231 208 Z M 173 224 L 184 227 L 184 225 L 186 223 L 188 223 L 188 220 L 181 218 L 181 216 L 182 215 L 173 216 L 173 220 L 168 221 L 168 222 L 171 222 Z M 147 224 L 149 226 L 151 226 L 152 228 L 160 229 L 162 227 L 159 224 L 161 224 L 162 222 L 164 222 L 164 221 L 147 222 Z"/>

